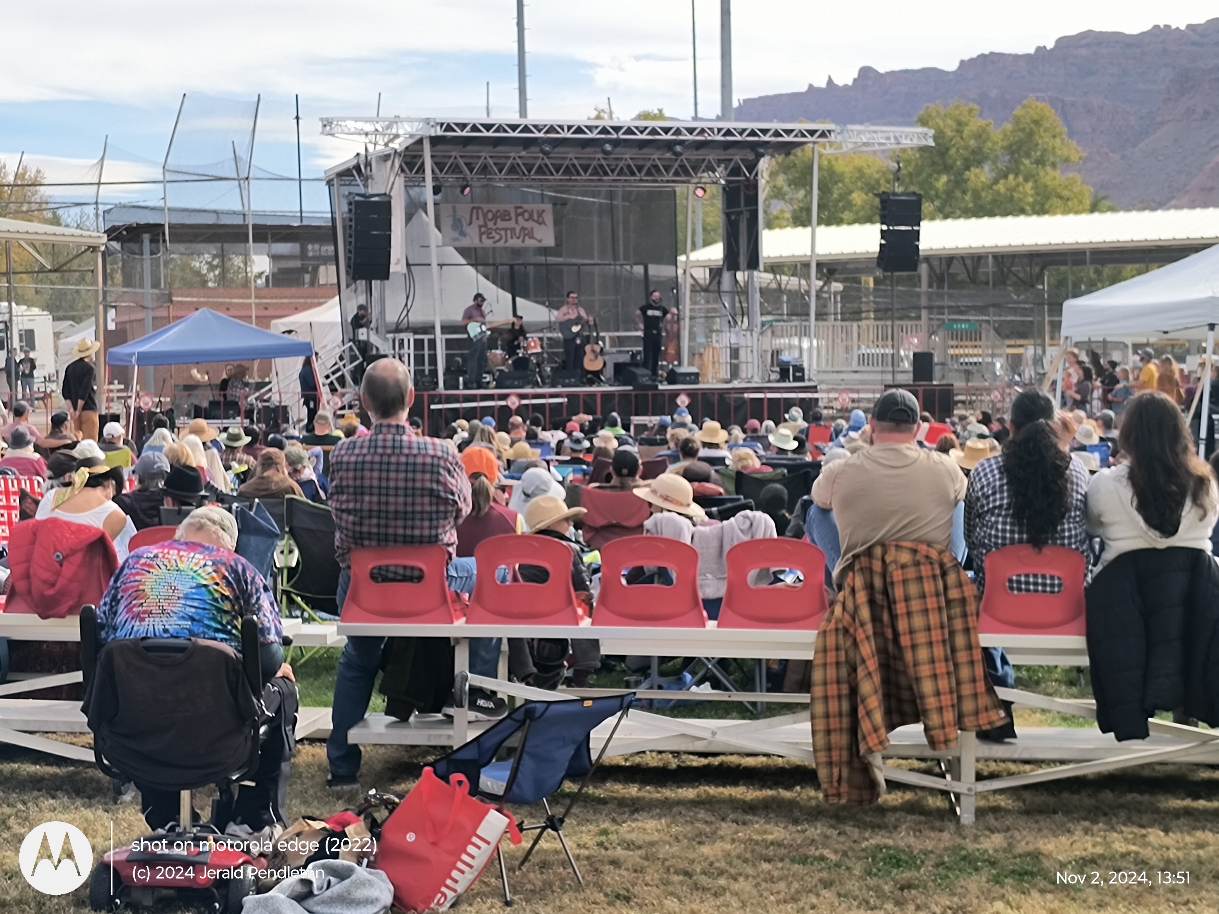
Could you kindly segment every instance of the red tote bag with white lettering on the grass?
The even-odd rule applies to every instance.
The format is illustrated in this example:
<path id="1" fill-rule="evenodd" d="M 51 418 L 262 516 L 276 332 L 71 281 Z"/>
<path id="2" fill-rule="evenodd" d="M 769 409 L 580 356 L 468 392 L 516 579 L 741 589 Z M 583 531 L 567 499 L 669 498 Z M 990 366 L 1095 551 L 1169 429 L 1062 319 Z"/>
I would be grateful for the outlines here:
<path id="1" fill-rule="evenodd" d="M 373 868 L 389 876 L 402 910 L 447 910 L 491 862 L 510 825 L 521 843 L 516 823 L 472 797 L 463 775 L 445 784 L 424 768 L 382 826 Z"/>

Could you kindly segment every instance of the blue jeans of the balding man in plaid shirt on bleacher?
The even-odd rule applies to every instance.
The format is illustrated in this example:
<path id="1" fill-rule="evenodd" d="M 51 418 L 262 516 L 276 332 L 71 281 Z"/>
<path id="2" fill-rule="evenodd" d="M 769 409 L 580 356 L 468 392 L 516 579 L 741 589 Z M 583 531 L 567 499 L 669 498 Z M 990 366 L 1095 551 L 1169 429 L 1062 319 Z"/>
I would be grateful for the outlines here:
<path id="1" fill-rule="evenodd" d="M 471 593 L 478 578 L 473 558 L 455 558 L 449 563 L 446 575 L 450 590 Z M 339 575 L 338 606 L 347 600 L 351 574 Z M 355 778 L 360 774 L 361 752 L 347 742 L 347 731 L 364 719 L 373 686 L 380 671 L 382 651 L 385 639 L 354 636 L 347 639 L 339 659 L 339 674 L 334 681 L 334 703 L 330 708 L 330 739 L 325 741 L 325 756 L 330 774 L 336 778 Z M 473 637 L 469 640 L 469 671 L 479 676 L 495 678 L 500 667 L 500 639 Z"/>

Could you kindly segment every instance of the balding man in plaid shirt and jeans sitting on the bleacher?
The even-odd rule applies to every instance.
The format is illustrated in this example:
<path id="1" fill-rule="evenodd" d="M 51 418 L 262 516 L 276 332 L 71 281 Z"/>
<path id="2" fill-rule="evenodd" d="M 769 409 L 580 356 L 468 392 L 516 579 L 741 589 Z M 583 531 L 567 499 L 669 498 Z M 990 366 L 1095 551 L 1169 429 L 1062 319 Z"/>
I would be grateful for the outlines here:
<path id="1" fill-rule="evenodd" d="M 444 441 L 417 438 L 406 424 L 414 400 L 411 373 L 393 358 L 368 368 L 361 400 L 373 419 L 372 434 L 349 438 L 330 453 L 330 511 L 334 514 L 334 551 L 339 567 L 338 604 L 341 611 L 351 586 L 351 550 L 366 546 L 427 546 L 449 550 L 450 590 L 474 590 L 473 558 L 453 558 L 457 525 L 469 514 L 469 480 L 457 453 Z M 401 574 L 401 573 L 400 573 Z M 386 578 L 391 579 L 391 574 Z M 357 785 L 361 752 L 347 742 L 347 730 L 368 713 L 380 669 L 384 637 L 349 637 L 334 684 L 327 758 L 332 787 Z M 495 676 L 500 640 L 471 639 L 471 671 Z M 471 717 L 502 717 L 502 700 L 472 689 Z"/>

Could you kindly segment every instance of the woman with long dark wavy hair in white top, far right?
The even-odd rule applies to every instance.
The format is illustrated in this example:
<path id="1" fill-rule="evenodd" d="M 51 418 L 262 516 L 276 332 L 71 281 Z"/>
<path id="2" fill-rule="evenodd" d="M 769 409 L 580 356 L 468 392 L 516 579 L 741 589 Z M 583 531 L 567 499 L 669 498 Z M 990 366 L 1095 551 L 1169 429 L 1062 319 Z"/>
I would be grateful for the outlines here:
<path id="1" fill-rule="evenodd" d="M 1135 550 L 1209 552 L 1219 489 L 1176 403 L 1159 391 L 1136 396 L 1118 446 L 1125 463 L 1097 473 L 1087 489 L 1087 530 L 1104 541 L 1097 570 Z"/>

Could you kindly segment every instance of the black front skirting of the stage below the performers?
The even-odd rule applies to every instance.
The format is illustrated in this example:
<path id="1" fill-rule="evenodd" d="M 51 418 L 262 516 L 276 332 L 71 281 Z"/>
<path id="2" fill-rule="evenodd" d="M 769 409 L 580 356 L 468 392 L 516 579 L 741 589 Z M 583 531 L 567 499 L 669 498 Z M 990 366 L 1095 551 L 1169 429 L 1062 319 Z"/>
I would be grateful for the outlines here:
<path id="1" fill-rule="evenodd" d="M 633 390 L 610 385 L 584 388 L 527 388 L 519 390 L 428 390 L 416 391 L 411 416 L 418 417 L 429 435 L 440 435 L 457 419 L 477 422 L 495 417 L 499 429 L 507 429 L 512 416 L 528 419 L 540 413 L 545 428 L 586 413 L 605 417 L 616 412 L 628 431 L 641 433 L 661 416 L 672 416 L 685 406 L 695 422 L 714 419 L 724 428 L 750 419 L 784 420 L 787 409 L 798 406 L 808 416 L 817 405 L 816 384 L 662 384 L 658 390 Z M 633 425 L 634 423 L 634 425 Z"/>

